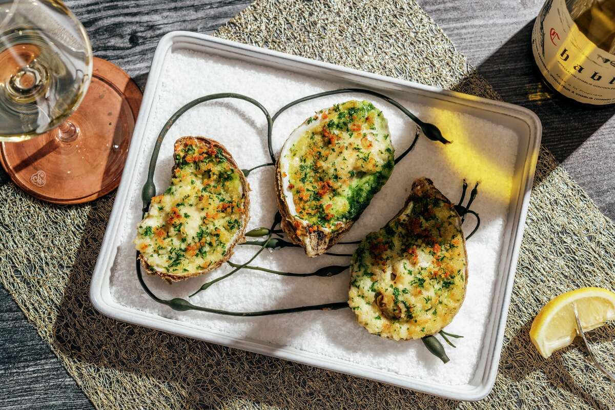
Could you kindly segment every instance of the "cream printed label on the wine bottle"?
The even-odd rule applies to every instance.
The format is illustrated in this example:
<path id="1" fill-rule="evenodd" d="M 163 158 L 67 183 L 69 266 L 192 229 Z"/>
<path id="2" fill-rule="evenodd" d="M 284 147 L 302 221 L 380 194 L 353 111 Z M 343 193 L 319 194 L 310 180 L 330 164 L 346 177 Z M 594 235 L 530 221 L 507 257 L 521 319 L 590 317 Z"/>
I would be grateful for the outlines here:
<path id="1" fill-rule="evenodd" d="M 615 55 L 579 31 L 565 0 L 547 0 L 542 6 L 532 52 L 542 76 L 562 95 L 581 103 L 615 103 Z"/>

